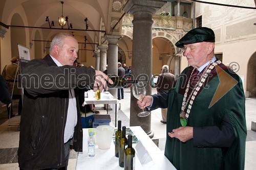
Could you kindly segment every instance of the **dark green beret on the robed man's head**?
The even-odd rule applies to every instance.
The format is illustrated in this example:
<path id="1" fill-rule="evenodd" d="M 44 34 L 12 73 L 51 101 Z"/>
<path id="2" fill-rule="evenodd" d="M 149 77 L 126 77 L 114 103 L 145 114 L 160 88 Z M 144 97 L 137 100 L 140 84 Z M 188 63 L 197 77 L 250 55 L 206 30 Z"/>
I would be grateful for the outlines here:
<path id="1" fill-rule="evenodd" d="M 215 42 L 214 31 L 206 27 L 195 28 L 186 33 L 178 42 L 176 42 L 175 45 L 179 48 L 183 48 L 184 44 L 192 44 L 203 41 Z"/>

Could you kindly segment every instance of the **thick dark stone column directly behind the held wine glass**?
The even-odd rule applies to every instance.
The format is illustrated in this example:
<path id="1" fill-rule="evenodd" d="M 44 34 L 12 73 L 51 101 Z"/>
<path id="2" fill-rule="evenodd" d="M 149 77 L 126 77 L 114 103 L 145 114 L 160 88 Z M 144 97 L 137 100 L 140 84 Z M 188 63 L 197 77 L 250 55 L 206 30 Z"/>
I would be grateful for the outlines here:
<path id="1" fill-rule="evenodd" d="M 152 90 L 150 86 L 152 77 L 152 16 L 165 3 L 161 0 L 133 0 L 128 1 L 123 7 L 123 11 L 134 16 L 132 75 L 137 80 L 141 75 L 146 77 L 146 95 L 151 95 Z M 138 117 L 138 113 L 141 111 L 142 109 L 137 105 L 137 99 L 131 92 L 130 126 L 141 126 L 152 138 L 154 132 L 151 131 L 151 114 L 146 117 Z"/>

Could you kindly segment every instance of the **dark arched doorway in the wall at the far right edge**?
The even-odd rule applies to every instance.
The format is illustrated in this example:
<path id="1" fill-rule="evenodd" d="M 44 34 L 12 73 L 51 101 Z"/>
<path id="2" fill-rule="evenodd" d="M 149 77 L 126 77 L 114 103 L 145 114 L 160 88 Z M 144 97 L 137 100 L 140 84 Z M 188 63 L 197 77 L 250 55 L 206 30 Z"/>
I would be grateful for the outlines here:
<path id="1" fill-rule="evenodd" d="M 256 52 L 252 54 L 247 65 L 246 89 L 249 91 L 249 97 L 256 97 Z"/>

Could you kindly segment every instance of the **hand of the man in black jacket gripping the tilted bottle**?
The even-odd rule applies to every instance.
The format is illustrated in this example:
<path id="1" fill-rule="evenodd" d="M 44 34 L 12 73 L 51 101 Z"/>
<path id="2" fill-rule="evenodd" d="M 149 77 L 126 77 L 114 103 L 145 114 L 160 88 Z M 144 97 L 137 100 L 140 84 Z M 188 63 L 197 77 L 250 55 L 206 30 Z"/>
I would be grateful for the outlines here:
<path id="1" fill-rule="evenodd" d="M 110 84 L 113 84 L 114 82 L 103 72 L 99 70 L 95 70 L 95 82 L 93 85 L 93 91 L 97 91 L 99 88 L 99 91 L 102 91 L 103 88 L 105 90 L 108 90 L 108 84 L 106 83 L 108 81 Z"/>

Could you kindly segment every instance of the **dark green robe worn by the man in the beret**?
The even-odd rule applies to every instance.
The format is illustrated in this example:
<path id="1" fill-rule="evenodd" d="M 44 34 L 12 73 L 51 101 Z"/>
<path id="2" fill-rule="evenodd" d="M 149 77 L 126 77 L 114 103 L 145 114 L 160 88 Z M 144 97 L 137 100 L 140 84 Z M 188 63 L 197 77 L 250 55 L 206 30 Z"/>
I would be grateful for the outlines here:
<path id="1" fill-rule="evenodd" d="M 223 64 L 219 65 L 223 67 Z M 189 67 L 187 67 L 182 74 L 190 75 L 191 69 L 188 68 Z M 242 81 L 237 74 L 229 72 L 228 69 L 225 69 L 225 72 L 238 83 L 209 108 L 216 89 L 220 84 L 219 76 L 216 73 L 216 68 L 214 68 L 211 72 L 213 73 L 211 80 L 208 81 L 205 86 L 206 88 L 202 89 L 193 103 L 187 126 L 206 127 L 221 125 L 224 115 L 227 114 L 230 118 L 235 139 L 229 148 L 220 148 L 218 146 L 212 148 L 198 148 L 193 146 L 194 139 L 182 142 L 177 138 L 169 137 L 167 134 L 165 156 L 177 169 L 244 169 L 247 132 L 244 90 Z M 178 79 L 176 86 L 170 90 L 169 93 L 167 132 L 172 132 L 173 129 L 181 127 L 179 118 L 183 100 L 183 94 L 179 93 L 179 89 L 182 85 L 181 77 Z M 184 88 L 186 88 L 186 86 Z M 203 138 L 203 136 L 201 137 Z"/>

